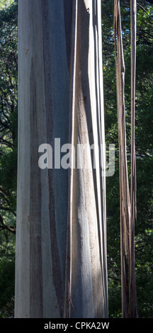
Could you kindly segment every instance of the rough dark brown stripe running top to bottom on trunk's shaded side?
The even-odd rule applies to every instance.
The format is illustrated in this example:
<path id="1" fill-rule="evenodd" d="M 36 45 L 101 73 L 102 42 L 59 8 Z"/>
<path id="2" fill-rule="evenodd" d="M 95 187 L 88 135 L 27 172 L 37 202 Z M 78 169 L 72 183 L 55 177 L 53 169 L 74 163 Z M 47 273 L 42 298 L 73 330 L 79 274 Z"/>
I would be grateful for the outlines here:
<path id="1" fill-rule="evenodd" d="M 44 58 L 44 74 L 45 74 L 45 108 L 47 115 L 47 142 L 50 145 L 54 145 L 54 121 L 53 112 L 54 104 L 52 99 L 54 98 L 52 85 L 54 84 L 52 80 L 52 50 L 50 50 L 50 11 L 48 8 L 48 1 L 42 2 L 42 29 L 43 29 L 43 58 Z M 53 104 L 53 105 L 52 105 Z M 53 159 L 54 164 L 54 159 Z M 49 179 L 49 214 L 50 214 L 50 237 L 51 237 L 51 254 L 52 254 L 52 279 L 55 287 L 55 293 L 57 296 L 57 301 L 60 307 L 60 317 L 63 315 L 63 286 L 62 286 L 62 272 L 60 267 L 60 254 L 58 249 L 57 240 L 57 225 L 55 217 L 55 193 L 54 193 L 54 169 L 48 169 L 48 179 Z"/>

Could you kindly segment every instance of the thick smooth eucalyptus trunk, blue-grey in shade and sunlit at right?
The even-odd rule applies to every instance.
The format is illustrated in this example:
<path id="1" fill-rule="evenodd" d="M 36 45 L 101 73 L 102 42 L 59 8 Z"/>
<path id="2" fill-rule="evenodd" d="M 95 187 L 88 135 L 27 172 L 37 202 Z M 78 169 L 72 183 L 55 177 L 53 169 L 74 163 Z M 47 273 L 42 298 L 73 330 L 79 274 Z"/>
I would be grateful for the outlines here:
<path id="1" fill-rule="evenodd" d="M 15 317 L 108 316 L 104 143 L 101 0 L 18 0 Z"/>

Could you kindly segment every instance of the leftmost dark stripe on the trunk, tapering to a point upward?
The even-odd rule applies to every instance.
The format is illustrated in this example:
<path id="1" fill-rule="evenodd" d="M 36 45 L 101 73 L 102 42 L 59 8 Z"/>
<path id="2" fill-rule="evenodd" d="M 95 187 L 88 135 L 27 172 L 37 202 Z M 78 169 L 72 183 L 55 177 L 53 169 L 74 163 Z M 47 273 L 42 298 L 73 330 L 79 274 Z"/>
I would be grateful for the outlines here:
<path id="1" fill-rule="evenodd" d="M 30 317 L 43 313 L 41 255 L 41 182 L 38 166 L 38 114 L 35 69 L 30 69 Z M 33 133 L 33 135 L 32 135 Z M 33 254 L 36 254 L 33 256 Z"/>

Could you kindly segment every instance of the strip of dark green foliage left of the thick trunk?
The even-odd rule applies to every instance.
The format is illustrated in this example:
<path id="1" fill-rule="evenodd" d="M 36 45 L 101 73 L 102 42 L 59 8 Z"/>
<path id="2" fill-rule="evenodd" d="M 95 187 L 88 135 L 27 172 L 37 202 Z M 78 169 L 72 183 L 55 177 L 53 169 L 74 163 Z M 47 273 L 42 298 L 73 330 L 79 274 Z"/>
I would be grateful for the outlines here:
<path id="1" fill-rule="evenodd" d="M 6 226 L 16 225 L 17 4 L 0 9 L 0 317 L 13 317 L 15 236 Z"/>

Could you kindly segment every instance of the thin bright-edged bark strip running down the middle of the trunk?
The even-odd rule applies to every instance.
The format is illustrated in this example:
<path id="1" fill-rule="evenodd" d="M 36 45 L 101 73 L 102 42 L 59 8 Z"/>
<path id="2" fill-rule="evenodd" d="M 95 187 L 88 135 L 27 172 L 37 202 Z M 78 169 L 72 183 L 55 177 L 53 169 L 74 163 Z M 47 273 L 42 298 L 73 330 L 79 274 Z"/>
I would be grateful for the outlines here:
<path id="1" fill-rule="evenodd" d="M 74 111 L 76 94 L 76 59 L 77 59 L 77 19 L 78 0 L 72 1 L 72 52 L 71 52 L 71 83 L 69 96 L 69 143 L 74 147 Z M 72 149 L 72 161 L 74 150 Z M 70 318 L 72 305 L 72 201 L 73 201 L 73 169 L 69 169 L 67 208 L 67 249 L 65 264 L 65 295 L 64 317 Z"/>

